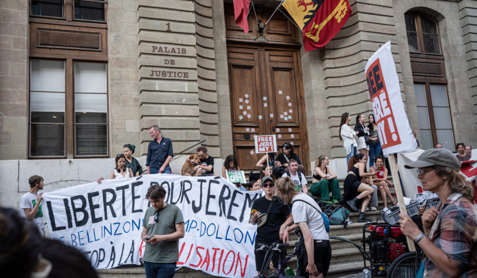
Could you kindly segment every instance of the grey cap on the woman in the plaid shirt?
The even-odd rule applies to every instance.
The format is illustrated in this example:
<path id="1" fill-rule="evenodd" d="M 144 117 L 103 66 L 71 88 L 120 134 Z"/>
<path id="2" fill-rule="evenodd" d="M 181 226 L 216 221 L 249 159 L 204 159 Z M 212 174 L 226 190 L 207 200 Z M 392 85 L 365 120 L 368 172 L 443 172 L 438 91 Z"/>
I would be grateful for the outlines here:
<path id="1" fill-rule="evenodd" d="M 433 165 L 448 167 L 454 170 L 460 169 L 460 163 L 456 155 L 444 148 L 427 150 L 419 155 L 416 161 L 404 165 L 407 169 L 424 168 Z"/>

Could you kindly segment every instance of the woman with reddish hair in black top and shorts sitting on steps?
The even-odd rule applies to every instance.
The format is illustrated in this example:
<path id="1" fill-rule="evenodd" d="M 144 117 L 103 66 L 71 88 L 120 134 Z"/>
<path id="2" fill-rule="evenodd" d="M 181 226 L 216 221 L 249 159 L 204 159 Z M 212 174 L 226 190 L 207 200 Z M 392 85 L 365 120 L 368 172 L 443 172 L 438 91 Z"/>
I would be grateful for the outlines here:
<path id="1" fill-rule="evenodd" d="M 372 221 L 366 217 L 364 211 L 371 200 L 373 194 L 373 187 L 362 183 L 363 177 L 370 177 L 376 175 L 376 172 L 366 173 L 366 156 L 364 154 L 357 154 L 350 159 L 348 165 L 348 176 L 345 178 L 345 200 L 350 206 L 351 210 L 359 211 L 358 222 L 364 223 Z M 361 205 L 361 210 L 358 206 Z"/>

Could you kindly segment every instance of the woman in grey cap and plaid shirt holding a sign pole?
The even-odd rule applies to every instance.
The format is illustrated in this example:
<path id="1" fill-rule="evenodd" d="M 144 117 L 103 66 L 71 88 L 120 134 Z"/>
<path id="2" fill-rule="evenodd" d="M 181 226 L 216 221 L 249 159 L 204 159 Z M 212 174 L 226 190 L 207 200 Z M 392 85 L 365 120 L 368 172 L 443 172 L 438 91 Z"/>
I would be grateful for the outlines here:
<path id="1" fill-rule="evenodd" d="M 424 276 L 477 277 L 477 209 L 471 203 L 475 193 L 459 173 L 456 156 L 444 148 L 430 149 L 405 167 L 417 168 L 424 190 L 435 192 L 441 201 L 422 214 L 423 232 L 399 214 L 402 232 L 426 254 Z"/>

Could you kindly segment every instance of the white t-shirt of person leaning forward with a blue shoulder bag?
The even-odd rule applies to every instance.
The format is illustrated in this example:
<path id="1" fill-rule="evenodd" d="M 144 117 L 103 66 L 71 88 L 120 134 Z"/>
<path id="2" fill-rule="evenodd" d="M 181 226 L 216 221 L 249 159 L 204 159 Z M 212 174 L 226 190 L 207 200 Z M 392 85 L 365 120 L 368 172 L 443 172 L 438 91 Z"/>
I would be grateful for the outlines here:
<path id="1" fill-rule="evenodd" d="M 311 205 L 296 200 L 304 200 Z M 308 229 L 310 230 L 314 240 L 330 239 L 328 237 L 328 233 L 326 232 L 325 223 L 321 214 L 322 210 L 318 204 L 316 204 L 313 198 L 305 193 L 298 193 L 295 195 L 295 197 L 293 197 L 292 204 L 292 215 L 295 224 L 306 222 L 306 225 L 308 225 Z"/>

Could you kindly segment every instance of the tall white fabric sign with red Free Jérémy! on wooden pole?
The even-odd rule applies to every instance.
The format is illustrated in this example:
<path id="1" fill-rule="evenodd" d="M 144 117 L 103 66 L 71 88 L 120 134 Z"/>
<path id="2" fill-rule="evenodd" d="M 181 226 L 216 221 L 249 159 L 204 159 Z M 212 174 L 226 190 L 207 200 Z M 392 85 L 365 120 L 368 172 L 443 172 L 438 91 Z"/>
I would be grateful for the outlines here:
<path id="1" fill-rule="evenodd" d="M 384 156 L 415 150 L 417 141 L 404 110 L 390 41 L 369 58 L 365 75 Z"/>

